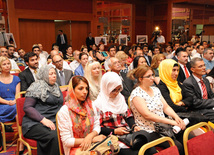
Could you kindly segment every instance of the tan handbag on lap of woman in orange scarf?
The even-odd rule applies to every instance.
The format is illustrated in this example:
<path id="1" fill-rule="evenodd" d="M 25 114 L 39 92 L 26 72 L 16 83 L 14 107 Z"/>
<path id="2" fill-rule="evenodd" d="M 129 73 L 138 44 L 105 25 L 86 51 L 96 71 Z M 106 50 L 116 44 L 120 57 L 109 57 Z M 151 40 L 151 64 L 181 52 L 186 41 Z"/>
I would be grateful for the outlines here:
<path id="1" fill-rule="evenodd" d="M 104 140 L 94 143 L 86 151 L 81 151 L 78 148 L 75 155 L 107 155 L 111 153 L 112 155 L 118 154 L 120 151 L 118 138 L 114 135 L 107 136 Z"/>

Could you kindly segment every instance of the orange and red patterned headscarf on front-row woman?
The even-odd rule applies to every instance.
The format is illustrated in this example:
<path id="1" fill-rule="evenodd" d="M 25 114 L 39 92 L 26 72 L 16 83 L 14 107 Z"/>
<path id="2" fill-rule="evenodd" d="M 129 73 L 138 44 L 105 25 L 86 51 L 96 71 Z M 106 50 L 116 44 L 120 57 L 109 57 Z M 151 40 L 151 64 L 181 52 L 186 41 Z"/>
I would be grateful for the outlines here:
<path id="1" fill-rule="evenodd" d="M 68 101 L 65 105 L 67 105 L 69 109 L 74 137 L 84 138 L 93 131 L 94 110 L 88 95 L 83 103 L 79 103 L 73 90 L 72 79 L 69 83 Z"/>

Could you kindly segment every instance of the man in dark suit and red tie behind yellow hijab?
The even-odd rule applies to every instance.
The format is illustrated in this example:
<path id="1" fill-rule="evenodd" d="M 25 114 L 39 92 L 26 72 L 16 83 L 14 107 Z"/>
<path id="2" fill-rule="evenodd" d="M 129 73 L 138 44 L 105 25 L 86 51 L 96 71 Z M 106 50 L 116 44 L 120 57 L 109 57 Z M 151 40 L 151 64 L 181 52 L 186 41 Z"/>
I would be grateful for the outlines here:
<path id="1" fill-rule="evenodd" d="M 188 62 L 188 53 L 186 51 L 179 51 L 177 53 L 178 64 L 180 65 L 178 82 L 183 83 L 191 75 L 190 63 Z"/>

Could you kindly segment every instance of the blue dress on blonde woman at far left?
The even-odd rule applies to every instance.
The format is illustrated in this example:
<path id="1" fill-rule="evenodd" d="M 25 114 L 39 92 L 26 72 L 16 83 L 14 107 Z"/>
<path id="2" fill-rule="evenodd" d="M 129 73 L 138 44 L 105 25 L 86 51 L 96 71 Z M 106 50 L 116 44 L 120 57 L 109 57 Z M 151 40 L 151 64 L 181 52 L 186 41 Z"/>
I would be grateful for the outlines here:
<path id="1" fill-rule="evenodd" d="M 18 76 L 13 76 L 10 84 L 4 84 L 0 81 L 0 97 L 5 100 L 14 100 L 16 95 L 16 85 L 20 82 Z M 14 120 L 16 116 L 16 104 L 10 106 L 0 103 L 0 122 Z"/>

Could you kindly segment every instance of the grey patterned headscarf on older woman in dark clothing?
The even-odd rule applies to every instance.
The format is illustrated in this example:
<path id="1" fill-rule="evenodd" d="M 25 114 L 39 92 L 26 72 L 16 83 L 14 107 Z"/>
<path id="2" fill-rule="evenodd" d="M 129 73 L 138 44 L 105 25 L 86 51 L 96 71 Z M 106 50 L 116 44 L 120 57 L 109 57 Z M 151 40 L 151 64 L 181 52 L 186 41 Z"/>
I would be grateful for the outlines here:
<path id="1" fill-rule="evenodd" d="M 33 97 L 41 99 L 43 102 L 49 97 L 47 92 L 50 92 L 56 97 L 60 97 L 60 90 L 57 83 L 49 84 L 49 70 L 53 68 L 50 65 L 42 66 L 36 74 L 37 81 L 33 82 L 27 89 L 25 97 Z"/>

